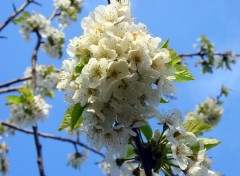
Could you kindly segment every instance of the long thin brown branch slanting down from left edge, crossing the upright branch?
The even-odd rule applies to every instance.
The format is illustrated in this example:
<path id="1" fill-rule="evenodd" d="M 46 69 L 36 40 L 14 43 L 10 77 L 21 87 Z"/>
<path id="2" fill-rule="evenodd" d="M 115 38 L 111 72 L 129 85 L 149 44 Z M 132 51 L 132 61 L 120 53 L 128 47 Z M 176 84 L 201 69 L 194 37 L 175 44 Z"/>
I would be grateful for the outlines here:
<path id="1" fill-rule="evenodd" d="M 19 128 L 15 125 L 12 125 L 12 124 L 9 124 L 7 122 L 2 122 L 0 121 L 0 125 L 3 125 L 3 126 L 6 126 L 8 128 L 11 128 L 11 129 L 14 129 L 14 130 L 17 130 L 19 132 L 22 132 L 22 133 L 25 133 L 25 134 L 34 134 L 33 131 L 30 131 L 30 130 L 26 130 L 26 129 L 23 129 L 23 128 Z M 40 136 L 40 137 L 43 137 L 43 138 L 46 138 L 46 139 L 53 139 L 53 140 L 57 140 L 57 141 L 61 141 L 61 142 L 66 142 L 66 143 L 71 143 L 73 145 L 79 145 L 95 154 L 98 154 L 102 157 L 104 157 L 104 155 L 102 153 L 100 153 L 99 151 L 87 146 L 86 144 L 83 144 L 82 142 L 79 142 L 79 141 L 75 141 L 75 140 L 72 140 L 72 139 L 68 139 L 68 138 L 63 138 L 63 137 L 58 137 L 58 136 L 54 136 L 54 135 L 51 135 L 51 134 L 46 134 L 46 133 L 39 133 L 37 132 L 37 135 Z"/>

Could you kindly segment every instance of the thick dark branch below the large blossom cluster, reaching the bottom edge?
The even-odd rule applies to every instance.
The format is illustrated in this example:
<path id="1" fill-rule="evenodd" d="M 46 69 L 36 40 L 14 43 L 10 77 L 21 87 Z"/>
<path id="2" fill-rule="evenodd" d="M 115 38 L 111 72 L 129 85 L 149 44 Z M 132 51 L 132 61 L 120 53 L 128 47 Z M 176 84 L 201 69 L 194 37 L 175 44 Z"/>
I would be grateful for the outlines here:
<path id="1" fill-rule="evenodd" d="M 139 156 L 140 156 L 140 160 L 142 162 L 144 172 L 145 172 L 146 176 L 152 176 L 152 171 L 151 171 L 151 168 L 147 161 L 146 154 L 144 153 L 144 149 L 142 146 L 142 142 L 141 142 L 141 138 L 140 138 L 141 134 L 139 133 L 139 131 L 137 129 L 133 129 L 133 131 L 137 134 L 137 136 L 134 137 L 134 141 L 135 141 L 135 144 L 136 144 Z"/>

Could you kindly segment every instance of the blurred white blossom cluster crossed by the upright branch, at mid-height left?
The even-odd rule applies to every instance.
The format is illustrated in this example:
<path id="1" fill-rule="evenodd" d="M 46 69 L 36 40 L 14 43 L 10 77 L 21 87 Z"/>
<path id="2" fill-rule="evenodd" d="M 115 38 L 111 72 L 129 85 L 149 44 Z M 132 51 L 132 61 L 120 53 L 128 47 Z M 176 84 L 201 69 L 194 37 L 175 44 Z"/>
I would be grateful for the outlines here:
<path id="1" fill-rule="evenodd" d="M 29 67 L 24 73 L 25 77 L 32 76 L 32 68 Z M 52 97 L 56 85 L 58 83 L 58 76 L 56 69 L 53 66 L 37 65 L 36 66 L 36 91 L 42 97 Z M 26 86 L 31 87 L 31 80 L 25 82 Z"/>

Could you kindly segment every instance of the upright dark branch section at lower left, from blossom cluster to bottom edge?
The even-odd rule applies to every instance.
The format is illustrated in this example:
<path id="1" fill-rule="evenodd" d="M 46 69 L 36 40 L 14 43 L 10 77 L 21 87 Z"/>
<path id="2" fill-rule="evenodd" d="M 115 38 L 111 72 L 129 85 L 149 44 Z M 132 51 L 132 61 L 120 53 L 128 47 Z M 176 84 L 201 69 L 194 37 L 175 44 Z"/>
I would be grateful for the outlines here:
<path id="1" fill-rule="evenodd" d="M 44 173 L 44 167 L 43 167 L 43 158 L 42 158 L 42 145 L 39 141 L 38 138 L 38 132 L 37 132 L 37 125 L 33 126 L 33 136 L 34 136 L 34 141 L 37 149 L 37 163 L 38 163 L 38 169 L 40 176 L 45 176 Z"/>

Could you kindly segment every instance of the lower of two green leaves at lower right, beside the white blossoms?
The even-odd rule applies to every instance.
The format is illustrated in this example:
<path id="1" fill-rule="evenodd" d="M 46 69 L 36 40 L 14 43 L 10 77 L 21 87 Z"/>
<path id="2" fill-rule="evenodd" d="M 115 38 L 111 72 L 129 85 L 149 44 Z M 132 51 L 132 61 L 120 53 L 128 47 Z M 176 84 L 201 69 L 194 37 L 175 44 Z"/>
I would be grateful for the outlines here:
<path id="1" fill-rule="evenodd" d="M 213 147 L 216 147 L 218 144 L 220 144 L 221 142 L 217 139 L 209 139 L 209 138 L 198 138 L 198 142 L 191 146 L 191 149 L 193 151 L 198 152 L 200 149 L 200 142 L 202 142 L 204 144 L 204 148 L 206 150 L 210 150 Z"/>

